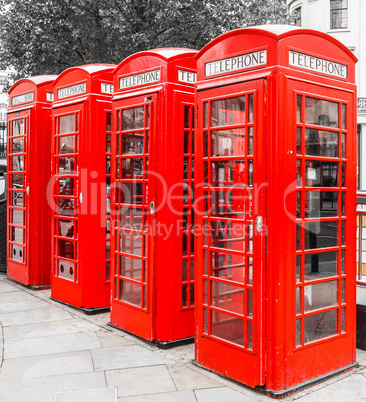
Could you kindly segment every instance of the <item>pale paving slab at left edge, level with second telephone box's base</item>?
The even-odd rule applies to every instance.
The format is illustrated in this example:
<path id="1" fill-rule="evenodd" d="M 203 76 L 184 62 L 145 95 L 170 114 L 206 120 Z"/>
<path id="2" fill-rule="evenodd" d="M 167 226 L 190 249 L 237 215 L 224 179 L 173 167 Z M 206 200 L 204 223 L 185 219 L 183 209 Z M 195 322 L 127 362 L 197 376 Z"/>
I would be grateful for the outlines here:
<path id="1" fill-rule="evenodd" d="M 48 308 L 43 300 L 23 291 L 0 293 L 0 314 Z"/>

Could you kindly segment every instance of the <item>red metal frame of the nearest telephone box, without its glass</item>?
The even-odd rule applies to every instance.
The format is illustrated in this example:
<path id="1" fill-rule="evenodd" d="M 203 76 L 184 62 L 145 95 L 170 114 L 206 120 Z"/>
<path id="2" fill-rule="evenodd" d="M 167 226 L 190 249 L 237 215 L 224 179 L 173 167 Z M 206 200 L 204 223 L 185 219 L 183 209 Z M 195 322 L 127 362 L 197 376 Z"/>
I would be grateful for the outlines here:
<path id="1" fill-rule="evenodd" d="M 210 77 L 205 76 L 207 63 L 262 50 L 266 52 L 266 60 L 262 65 L 221 74 L 217 73 Z M 304 68 L 290 66 L 290 50 L 345 65 L 347 66 L 347 77 L 337 78 L 323 72 L 309 71 L 309 66 Z M 266 82 L 266 90 L 260 95 L 263 96 L 263 102 L 266 106 L 263 110 L 258 109 L 255 112 L 255 115 L 259 113 L 257 119 L 263 125 L 263 132 L 257 131 L 257 138 L 254 138 L 254 144 L 263 141 L 263 146 L 266 147 L 266 165 L 255 166 L 254 175 L 256 173 L 262 175 L 262 171 L 265 169 L 265 174 L 261 177 L 265 177 L 266 182 L 257 184 L 262 184 L 265 187 L 267 201 L 263 222 L 267 237 L 265 265 L 262 266 L 259 261 L 254 261 L 257 270 L 263 270 L 264 283 L 262 285 L 265 289 L 265 301 L 261 301 L 264 303 L 264 308 L 260 310 L 262 314 L 260 320 L 265 331 L 264 333 L 259 331 L 255 335 L 257 337 L 264 336 L 265 339 L 257 338 L 254 341 L 258 344 L 264 343 L 265 351 L 262 354 L 262 360 L 256 363 L 256 366 L 252 366 L 251 370 L 246 370 L 246 360 L 242 357 L 245 350 L 243 348 L 239 350 L 240 348 L 235 348 L 228 342 L 216 340 L 209 334 L 207 335 L 207 330 L 203 326 L 204 281 L 202 269 L 206 261 L 203 254 L 203 233 L 199 233 L 196 247 L 196 326 L 198 331 L 196 361 L 200 365 L 250 386 L 262 386 L 272 395 L 280 396 L 293 392 L 296 387 L 310 380 L 337 370 L 347 369 L 355 363 L 355 62 L 354 55 L 334 38 L 317 31 L 288 26 L 263 26 L 232 31 L 209 43 L 197 55 L 197 183 L 204 179 L 202 138 L 204 135 L 203 102 L 205 99 L 214 100 L 215 91 L 218 98 L 225 93 L 227 97 L 233 96 L 232 91 L 234 94 L 240 92 L 237 89 L 238 87 L 242 88 L 242 92 L 245 92 L 247 85 L 251 85 L 254 80 L 265 80 Z M 227 63 L 221 65 L 224 70 L 226 66 L 231 65 L 230 61 Z M 330 190 L 328 188 L 315 188 L 315 190 L 333 191 L 338 195 L 344 193 L 347 197 L 347 201 L 344 202 L 345 213 L 341 211 L 340 201 L 335 218 L 333 218 L 337 222 L 338 228 L 335 238 L 336 245 L 333 248 L 328 246 L 328 249 L 318 250 L 332 250 L 338 255 L 334 278 L 337 283 L 335 305 L 317 310 L 321 313 L 324 312 L 324 314 L 328 310 L 335 312 L 334 314 L 337 317 L 336 333 L 329 336 L 323 335 L 321 339 L 315 339 L 312 342 L 306 342 L 306 344 L 302 343 L 299 346 L 296 343 L 296 318 L 304 320 L 305 316 L 310 313 L 302 310 L 300 315 L 296 315 L 296 288 L 300 289 L 308 284 L 306 282 L 297 284 L 296 282 L 296 226 L 297 223 L 303 224 L 302 222 L 310 222 L 311 219 L 296 220 L 296 161 L 297 159 L 300 160 L 300 157 L 296 155 L 297 95 L 338 102 L 339 113 L 341 113 L 340 109 L 344 105 L 347 121 L 346 128 L 340 127 L 338 131 L 336 130 L 339 132 L 338 145 L 343 141 L 341 140 L 343 134 L 346 138 L 346 156 L 341 153 L 341 147 L 339 147 L 338 154 L 334 160 L 331 159 L 338 166 L 336 187 Z M 341 115 L 339 114 L 339 116 Z M 305 125 L 300 124 L 298 126 L 303 127 L 302 130 L 305 132 Z M 335 129 L 328 130 L 334 131 Z M 254 132 L 256 133 L 255 130 Z M 265 135 L 266 137 L 264 137 Z M 312 158 L 319 161 L 323 160 L 321 157 L 307 159 Z M 329 159 L 324 158 L 324 160 L 328 161 Z M 346 184 L 341 183 L 340 169 L 342 166 L 345 169 Z M 307 189 L 310 190 L 310 187 Z M 305 188 L 299 188 L 298 191 L 304 192 Z M 197 186 L 195 195 L 198 200 L 203 197 L 202 186 Z M 340 198 L 342 197 L 340 196 Z M 256 210 L 255 204 L 258 203 L 258 199 L 254 197 L 253 203 L 254 210 Z M 198 210 L 201 211 L 202 208 L 202 204 L 198 202 Z M 260 213 L 257 214 L 260 215 Z M 253 218 L 255 220 L 256 216 Z M 202 218 L 198 219 L 201 224 L 199 226 L 202 227 L 203 220 Z M 330 218 L 319 218 L 317 221 L 330 220 Z M 343 222 L 346 223 L 343 224 Z M 342 239 L 342 233 L 346 243 Z M 258 235 L 259 233 L 254 230 L 254 244 Z M 304 255 L 309 251 L 305 250 L 305 252 L 302 251 L 298 254 Z M 341 252 L 345 253 L 345 265 L 342 265 Z M 303 269 L 304 266 L 302 265 L 301 270 Z M 328 281 L 319 280 L 310 283 L 324 282 L 329 284 L 329 278 Z M 258 283 L 257 286 L 259 286 Z M 304 309 L 304 290 L 302 290 L 301 297 L 302 304 L 300 303 L 300 306 L 303 306 L 302 309 Z M 246 306 L 243 307 L 247 308 Z M 301 329 L 303 330 L 303 328 L 302 326 Z M 225 344 L 226 349 L 222 347 L 223 344 Z M 261 376 L 264 367 L 264 376 Z"/>

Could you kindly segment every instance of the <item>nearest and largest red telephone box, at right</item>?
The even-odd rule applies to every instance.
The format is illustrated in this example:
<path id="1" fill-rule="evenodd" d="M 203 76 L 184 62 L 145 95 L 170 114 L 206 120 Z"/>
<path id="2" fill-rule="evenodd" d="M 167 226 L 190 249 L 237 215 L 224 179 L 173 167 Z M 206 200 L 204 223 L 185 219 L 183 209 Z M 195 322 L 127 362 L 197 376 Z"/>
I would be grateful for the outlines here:
<path id="1" fill-rule="evenodd" d="M 196 361 L 273 396 L 355 363 L 355 62 L 289 26 L 197 55 Z"/>

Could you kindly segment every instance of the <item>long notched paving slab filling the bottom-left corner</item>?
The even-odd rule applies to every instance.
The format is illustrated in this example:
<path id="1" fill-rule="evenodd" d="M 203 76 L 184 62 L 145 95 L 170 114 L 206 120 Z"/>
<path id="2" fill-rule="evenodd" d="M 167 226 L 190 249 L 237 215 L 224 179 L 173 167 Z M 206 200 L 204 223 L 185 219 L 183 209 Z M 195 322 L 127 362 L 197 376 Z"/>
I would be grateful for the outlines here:
<path id="1" fill-rule="evenodd" d="M 53 402 L 58 392 L 105 388 L 103 373 L 0 382 L 0 402 Z"/>

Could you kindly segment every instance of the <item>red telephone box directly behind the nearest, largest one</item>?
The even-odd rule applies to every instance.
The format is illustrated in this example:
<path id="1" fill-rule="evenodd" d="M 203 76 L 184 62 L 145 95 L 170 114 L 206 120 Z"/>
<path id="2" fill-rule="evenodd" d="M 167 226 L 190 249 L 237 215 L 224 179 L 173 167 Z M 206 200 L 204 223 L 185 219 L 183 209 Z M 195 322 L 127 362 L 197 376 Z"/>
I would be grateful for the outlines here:
<path id="1" fill-rule="evenodd" d="M 114 73 L 111 324 L 161 347 L 194 336 L 196 53 L 136 53 Z"/>

